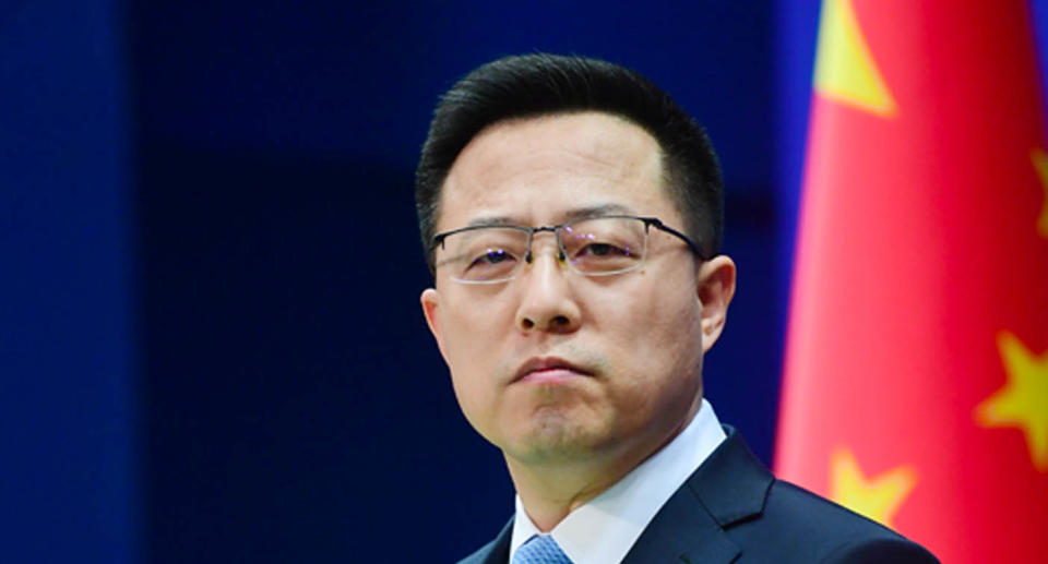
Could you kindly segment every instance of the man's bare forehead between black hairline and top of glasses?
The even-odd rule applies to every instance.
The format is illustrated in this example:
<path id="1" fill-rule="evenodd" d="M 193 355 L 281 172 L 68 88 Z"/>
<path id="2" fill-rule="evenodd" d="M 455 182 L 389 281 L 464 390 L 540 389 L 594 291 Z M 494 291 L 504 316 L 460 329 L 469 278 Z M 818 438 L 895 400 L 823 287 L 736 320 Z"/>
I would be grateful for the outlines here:
<path id="1" fill-rule="evenodd" d="M 499 122 L 478 133 L 449 170 L 438 230 L 478 217 L 558 223 L 573 211 L 608 206 L 679 224 L 663 189 L 662 160 L 651 134 L 608 113 Z"/>

